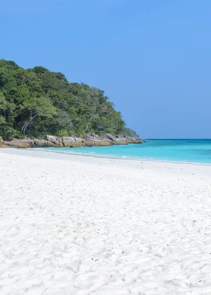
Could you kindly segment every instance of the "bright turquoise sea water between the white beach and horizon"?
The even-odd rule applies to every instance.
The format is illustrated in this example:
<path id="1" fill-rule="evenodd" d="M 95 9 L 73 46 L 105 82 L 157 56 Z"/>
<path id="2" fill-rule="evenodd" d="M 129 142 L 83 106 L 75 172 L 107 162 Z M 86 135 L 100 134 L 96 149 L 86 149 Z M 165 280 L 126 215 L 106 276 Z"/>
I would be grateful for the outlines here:
<path id="1" fill-rule="evenodd" d="M 211 139 L 149 139 L 142 145 L 44 149 L 95 156 L 211 164 Z"/>

